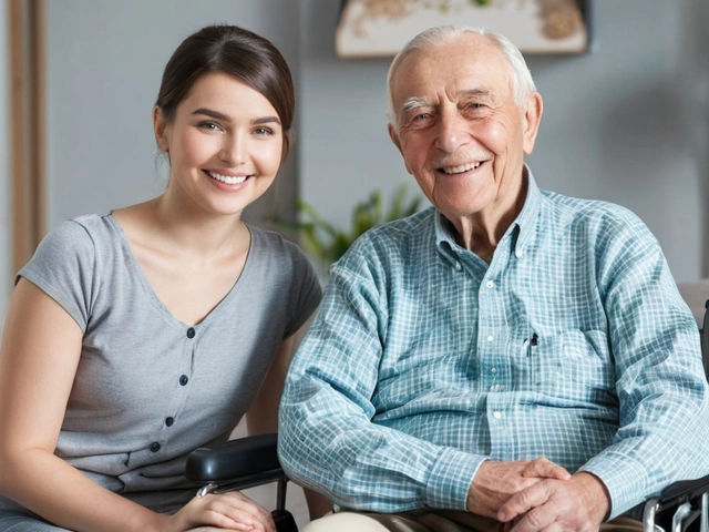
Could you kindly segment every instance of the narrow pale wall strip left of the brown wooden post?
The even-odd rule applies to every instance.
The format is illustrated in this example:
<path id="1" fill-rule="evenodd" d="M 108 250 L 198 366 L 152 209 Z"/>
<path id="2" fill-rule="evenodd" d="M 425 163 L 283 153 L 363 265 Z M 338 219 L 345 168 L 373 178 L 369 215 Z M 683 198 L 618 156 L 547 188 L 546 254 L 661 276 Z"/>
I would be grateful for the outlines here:
<path id="1" fill-rule="evenodd" d="M 0 0 L 0 332 L 12 288 L 10 241 L 10 62 L 8 58 L 8 7 Z"/>

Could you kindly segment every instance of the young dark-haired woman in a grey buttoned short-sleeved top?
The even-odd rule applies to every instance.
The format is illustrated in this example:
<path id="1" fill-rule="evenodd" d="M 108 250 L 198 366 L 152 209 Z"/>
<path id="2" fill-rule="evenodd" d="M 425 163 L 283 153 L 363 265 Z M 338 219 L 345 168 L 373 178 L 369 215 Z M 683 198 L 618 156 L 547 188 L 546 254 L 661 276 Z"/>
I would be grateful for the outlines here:
<path id="1" fill-rule="evenodd" d="M 0 348 L 0 530 L 274 531 L 240 493 L 195 498 L 184 464 L 245 413 L 250 433 L 276 430 L 320 300 L 295 245 L 240 222 L 288 154 L 294 104 L 269 41 L 188 37 L 153 113 L 165 192 L 60 224 L 20 270 Z"/>

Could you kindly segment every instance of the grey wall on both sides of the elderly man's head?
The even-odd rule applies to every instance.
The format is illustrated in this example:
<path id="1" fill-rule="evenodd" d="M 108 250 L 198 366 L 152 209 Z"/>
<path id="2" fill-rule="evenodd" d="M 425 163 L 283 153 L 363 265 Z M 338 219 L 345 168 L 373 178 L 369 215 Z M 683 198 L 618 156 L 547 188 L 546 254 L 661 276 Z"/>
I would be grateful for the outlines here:
<path id="1" fill-rule="evenodd" d="M 349 207 L 372 187 L 415 184 L 387 134 L 390 60 L 337 59 L 338 4 L 301 1 L 299 177 L 302 196 L 346 225 Z M 528 162 L 543 187 L 633 209 L 678 282 L 706 276 L 708 147 L 689 142 L 699 115 L 681 88 L 687 72 L 707 72 L 706 2 L 592 4 L 592 53 L 527 58 L 546 106 Z M 700 45 L 703 55 L 687 53 Z"/>

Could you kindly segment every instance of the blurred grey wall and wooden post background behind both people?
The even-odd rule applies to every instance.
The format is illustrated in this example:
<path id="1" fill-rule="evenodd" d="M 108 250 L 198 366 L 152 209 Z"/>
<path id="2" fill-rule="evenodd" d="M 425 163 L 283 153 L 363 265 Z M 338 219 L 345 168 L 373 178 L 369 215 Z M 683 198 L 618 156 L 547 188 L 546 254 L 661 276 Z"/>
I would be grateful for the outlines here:
<path id="1" fill-rule="evenodd" d="M 528 163 L 544 188 L 634 211 L 677 282 L 708 277 L 709 2 L 590 0 L 587 10 L 586 53 L 527 55 L 545 102 Z M 339 13 L 339 0 L 0 0 L 0 318 L 48 229 L 161 193 L 160 78 L 208 23 L 270 39 L 297 84 L 295 149 L 249 223 L 294 221 L 300 197 L 347 228 L 373 190 L 387 201 L 402 183 L 417 192 L 387 134 L 391 58 L 338 58 Z M 33 82 L 19 102 L 22 75 Z"/>

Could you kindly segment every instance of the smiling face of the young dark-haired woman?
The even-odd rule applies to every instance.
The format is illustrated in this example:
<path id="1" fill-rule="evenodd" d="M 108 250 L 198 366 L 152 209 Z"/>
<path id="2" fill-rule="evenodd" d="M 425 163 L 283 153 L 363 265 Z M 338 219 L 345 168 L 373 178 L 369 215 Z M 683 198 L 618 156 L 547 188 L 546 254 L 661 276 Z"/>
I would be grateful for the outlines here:
<path id="1" fill-rule="evenodd" d="M 227 74 L 199 79 L 172 122 L 156 109 L 154 126 L 169 157 L 167 192 L 199 209 L 240 216 L 280 166 L 278 113 L 263 94 Z"/>

